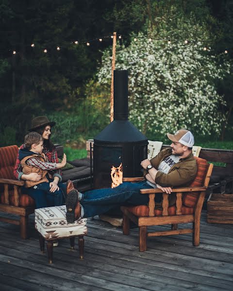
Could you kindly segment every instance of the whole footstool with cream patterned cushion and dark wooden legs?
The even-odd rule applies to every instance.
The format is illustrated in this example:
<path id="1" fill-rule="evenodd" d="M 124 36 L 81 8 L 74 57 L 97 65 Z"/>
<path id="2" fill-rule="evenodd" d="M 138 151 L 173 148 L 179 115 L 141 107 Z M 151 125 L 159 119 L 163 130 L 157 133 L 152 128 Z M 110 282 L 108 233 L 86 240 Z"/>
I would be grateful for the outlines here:
<path id="1" fill-rule="evenodd" d="M 84 239 L 87 234 L 86 218 L 67 223 L 66 205 L 35 209 L 35 229 L 39 232 L 40 250 L 45 252 L 45 241 L 49 263 L 52 263 L 53 242 L 69 238 L 70 248 L 74 249 L 74 239 L 78 237 L 79 255 L 83 259 Z"/>

